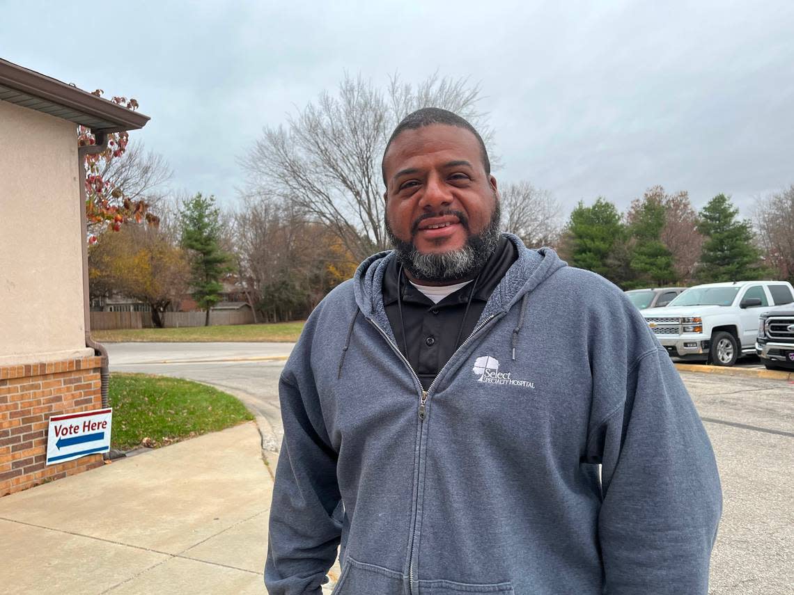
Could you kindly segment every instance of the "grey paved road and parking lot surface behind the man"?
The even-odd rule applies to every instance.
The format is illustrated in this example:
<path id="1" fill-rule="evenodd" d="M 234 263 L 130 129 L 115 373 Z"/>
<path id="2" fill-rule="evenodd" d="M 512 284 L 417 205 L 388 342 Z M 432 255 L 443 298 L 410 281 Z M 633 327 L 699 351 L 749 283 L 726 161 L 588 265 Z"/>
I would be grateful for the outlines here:
<path id="1" fill-rule="evenodd" d="M 190 378 L 236 395 L 280 442 L 277 383 L 283 359 L 267 358 L 283 358 L 291 344 L 106 347 L 111 370 Z M 741 363 L 761 367 L 753 359 Z M 710 593 L 794 593 L 794 382 L 681 375 L 711 437 L 723 482 Z"/>

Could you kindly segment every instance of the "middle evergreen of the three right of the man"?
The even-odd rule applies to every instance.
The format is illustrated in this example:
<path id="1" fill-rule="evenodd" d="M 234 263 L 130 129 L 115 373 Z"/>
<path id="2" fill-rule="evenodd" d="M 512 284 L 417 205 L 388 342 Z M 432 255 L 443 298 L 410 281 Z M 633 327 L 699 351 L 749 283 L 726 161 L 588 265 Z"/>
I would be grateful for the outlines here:
<path id="1" fill-rule="evenodd" d="M 673 254 L 661 241 L 667 209 L 653 194 L 635 201 L 630 212 L 630 233 L 634 238 L 631 267 L 657 286 L 676 280 Z"/>

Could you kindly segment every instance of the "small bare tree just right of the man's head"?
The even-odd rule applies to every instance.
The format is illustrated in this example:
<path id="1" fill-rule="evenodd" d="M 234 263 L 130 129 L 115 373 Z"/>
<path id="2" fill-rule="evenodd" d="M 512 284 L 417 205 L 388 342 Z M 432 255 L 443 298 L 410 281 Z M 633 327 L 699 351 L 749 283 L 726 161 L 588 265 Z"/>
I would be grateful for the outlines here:
<path id="1" fill-rule="evenodd" d="M 530 182 L 499 188 L 503 229 L 515 233 L 528 248 L 555 244 L 561 233 L 561 206 L 546 190 Z"/>

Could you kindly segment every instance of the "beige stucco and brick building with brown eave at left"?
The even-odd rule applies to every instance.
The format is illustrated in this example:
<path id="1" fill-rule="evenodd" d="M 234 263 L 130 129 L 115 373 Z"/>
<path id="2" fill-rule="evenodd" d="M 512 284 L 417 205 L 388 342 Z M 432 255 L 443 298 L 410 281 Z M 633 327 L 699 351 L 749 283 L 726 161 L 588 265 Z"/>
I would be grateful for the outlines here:
<path id="1" fill-rule="evenodd" d="M 48 419 L 107 406 L 107 353 L 90 335 L 83 161 L 108 133 L 147 121 L 0 59 L 0 496 L 102 464 L 45 466 Z M 78 148 L 77 125 L 97 145 Z"/>

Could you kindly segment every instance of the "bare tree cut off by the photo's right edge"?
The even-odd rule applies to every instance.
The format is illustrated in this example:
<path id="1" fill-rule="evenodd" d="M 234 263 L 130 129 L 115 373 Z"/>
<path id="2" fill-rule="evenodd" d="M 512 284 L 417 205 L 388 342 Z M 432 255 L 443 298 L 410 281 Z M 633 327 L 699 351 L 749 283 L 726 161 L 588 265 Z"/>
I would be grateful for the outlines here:
<path id="1" fill-rule="evenodd" d="M 794 282 L 794 184 L 761 198 L 754 219 L 767 264 Z"/>

